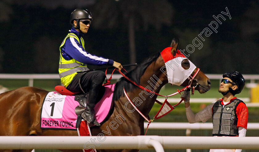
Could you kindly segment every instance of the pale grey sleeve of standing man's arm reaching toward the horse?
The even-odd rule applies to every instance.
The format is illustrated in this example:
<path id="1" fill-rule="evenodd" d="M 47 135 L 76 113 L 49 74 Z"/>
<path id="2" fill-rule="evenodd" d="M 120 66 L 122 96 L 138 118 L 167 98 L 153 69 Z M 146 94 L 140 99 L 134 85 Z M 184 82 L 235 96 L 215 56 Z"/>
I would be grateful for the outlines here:
<path id="1" fill-rule="evenodd" d="M 197 123 L 202 121 L 205 123 L 208 119 L 212 117 L 212 107 L 215 102 L 209 104 L 202 111 L 199 111 L 197 114 L 194 114 L 191 110 L 191 106 L 185 108 L 186 116 L 189 123 Z"/>

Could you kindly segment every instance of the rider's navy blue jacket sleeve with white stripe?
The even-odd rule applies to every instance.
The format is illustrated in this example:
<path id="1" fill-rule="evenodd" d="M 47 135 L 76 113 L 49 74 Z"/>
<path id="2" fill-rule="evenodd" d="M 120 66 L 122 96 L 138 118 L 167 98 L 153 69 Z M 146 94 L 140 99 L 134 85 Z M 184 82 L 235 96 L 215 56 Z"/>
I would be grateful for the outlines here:
<path id="1" fill-rule="evenodd" d="M 63 53 L 81 63 L 92 65 L 113 65 L 113 60 L 109 60 L 104 57 L 97 57 L 96 55 L 86 52 L 83 46 L 73 37 L 69 37 L 66 40 L 64 48 Z"/>

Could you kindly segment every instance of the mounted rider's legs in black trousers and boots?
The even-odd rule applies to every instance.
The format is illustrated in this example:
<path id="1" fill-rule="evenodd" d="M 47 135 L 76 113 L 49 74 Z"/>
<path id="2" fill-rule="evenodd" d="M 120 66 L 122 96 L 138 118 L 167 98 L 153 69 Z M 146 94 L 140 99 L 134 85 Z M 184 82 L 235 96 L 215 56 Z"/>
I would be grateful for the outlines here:
<path id="1" fill-rule="evenodd" d="M 81 92 L 79 80 L 84 92 L 89 92 L 88 97 L 87 94 L 81 96 L 84 105 L 86 105 L 84 113 L 82 113 L 82 117 L 89 123 L 90 126 L 93 124 L 100 126 L 100 124 L 94 120 L 93 108 L 97 103 L 99 90 L 105 80 L 105 73 L 102 71 L 78 73 L 68 85 L 67 89 L 72 92 Z"/>

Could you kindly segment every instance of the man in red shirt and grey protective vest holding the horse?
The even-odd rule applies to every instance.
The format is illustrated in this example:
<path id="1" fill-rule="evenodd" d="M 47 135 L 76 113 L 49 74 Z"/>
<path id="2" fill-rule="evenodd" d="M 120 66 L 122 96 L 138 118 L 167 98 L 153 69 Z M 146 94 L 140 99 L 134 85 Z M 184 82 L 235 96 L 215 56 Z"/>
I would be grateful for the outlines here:
<path id="1" fill-rule="evenodd" d="M 239 72 L 223 74 L 218 90 L 223 98 L 211 103 L 197 114 L 194 114 L 190 107 L 190 92 L 184 91 L 181 97 L 185 98 L 185 110 L 189 123 L 199 121 L 205 123 L 212 117 L 213 136 L 245 137 L 248 109 L 242 100 L 234 97 L 243 90 L 244 86 L 245 79 Z M 241 149 L 211 149 L 210 152 L 241 152 Z"/>

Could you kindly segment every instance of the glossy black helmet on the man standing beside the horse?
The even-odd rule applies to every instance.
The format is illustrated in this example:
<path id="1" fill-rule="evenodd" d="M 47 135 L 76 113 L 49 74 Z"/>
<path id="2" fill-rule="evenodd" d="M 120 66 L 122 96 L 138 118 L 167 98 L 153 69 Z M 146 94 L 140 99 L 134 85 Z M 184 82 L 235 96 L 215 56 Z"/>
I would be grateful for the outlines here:
<path id="1" fill-rule="evenodd" d="M 233 95 L 239 94 L 244 89 L 244 87 L 245 87 L 245 79 L 242 76 L 242 74 L 240 74 L 239 72 L 236 72 L 236 71 L 227 72 L 227 73 L 223 74 L 223 78 L 224 77 L 228 77 L 229 79 L 231 79 L 237 85 L 237 89 L 236 90 L 232 90 L 230 88 L 230 92 Z"/>

